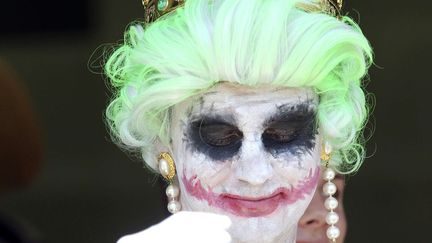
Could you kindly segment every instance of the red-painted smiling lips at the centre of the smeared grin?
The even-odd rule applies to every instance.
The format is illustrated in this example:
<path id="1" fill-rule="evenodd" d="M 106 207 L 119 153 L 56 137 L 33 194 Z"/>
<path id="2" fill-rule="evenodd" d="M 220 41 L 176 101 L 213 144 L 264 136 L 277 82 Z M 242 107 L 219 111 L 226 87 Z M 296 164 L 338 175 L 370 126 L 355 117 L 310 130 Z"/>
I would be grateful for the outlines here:
<path id="1" fill-rule="evenodd" d="M 224 208 L 242 217 L 262 217 L 273 213 L 288 198 L 287 190 L 279 188 L 272 194 L 262 197 L 246 197 L 233 194 L 221 194 L 220 202 Z"/>

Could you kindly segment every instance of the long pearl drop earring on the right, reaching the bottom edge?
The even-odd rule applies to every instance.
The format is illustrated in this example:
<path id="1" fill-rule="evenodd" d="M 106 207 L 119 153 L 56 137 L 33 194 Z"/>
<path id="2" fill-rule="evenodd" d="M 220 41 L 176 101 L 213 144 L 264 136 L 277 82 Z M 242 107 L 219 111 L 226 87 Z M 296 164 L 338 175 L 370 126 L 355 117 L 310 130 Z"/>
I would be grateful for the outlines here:
<path id="1" fill-rule="evenodd" d="M 329 167 L 330 154 L 331 146 L 326 143 L 321 151 L 321 160 L 324 162 L 325 166 L 323 180 L 327 181 L 327 183 L 325 183 L 323 186 L 323 192 L 326 196 L 328 196 L 324 202 L 324 207 L 329 211 L 325 220 L 329 225 L 327 228 L 327 238 L 331 242 L 336 242 L 336 239 L 340 236 L 340 230 L 335 226 L 335 224 L 339 221 L 339 215 L 334 212 L 334 210 L 337 208 L 339 203 L 337 199 L 333 197 L 337 191 L 336 185 L 332 182 L 336 176 L 336 172 Z"/>

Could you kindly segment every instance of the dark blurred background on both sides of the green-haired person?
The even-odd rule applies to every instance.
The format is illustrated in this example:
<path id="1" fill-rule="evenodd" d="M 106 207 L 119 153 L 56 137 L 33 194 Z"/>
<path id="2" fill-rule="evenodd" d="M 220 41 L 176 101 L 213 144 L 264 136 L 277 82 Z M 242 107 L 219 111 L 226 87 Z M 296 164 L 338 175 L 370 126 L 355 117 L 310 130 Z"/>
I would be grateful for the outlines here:
<path id="1" fill-rule="evenodd" d="M 35 164 L 0 186 L 0 215 L 46 243 L 115 242 L 163 219 L 157 178 L 110 142 L 102 120 L 110 92 L 88 68 L 95 50 L 143 17 L 141 1 L 0 3 L 0 59 L 28 99 L 23 114 L 36 117 L 28 139 L 15 141 Z M 347 178 L 346 242 L 432 242 L 432 3 L 352 0 L 344 8 L 376 55 L 368 85 L 375 132 L 370 158 Z M 8 107 L 0 108 L 5 127 Z"/>

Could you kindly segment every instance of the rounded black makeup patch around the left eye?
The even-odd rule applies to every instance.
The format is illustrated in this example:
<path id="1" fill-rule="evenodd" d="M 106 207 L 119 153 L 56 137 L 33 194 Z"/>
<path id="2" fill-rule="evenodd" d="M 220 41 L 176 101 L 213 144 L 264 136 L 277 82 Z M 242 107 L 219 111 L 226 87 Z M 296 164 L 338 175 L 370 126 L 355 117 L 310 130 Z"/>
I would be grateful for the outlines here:
<path id="1" fill-rule="evenodd" d="M 243 133 L 233 125 L 232 118 L 201 117 L 189 126 L 189 140 L 199 152 L 213 160 L 225 160 L 236 155 Z"/>

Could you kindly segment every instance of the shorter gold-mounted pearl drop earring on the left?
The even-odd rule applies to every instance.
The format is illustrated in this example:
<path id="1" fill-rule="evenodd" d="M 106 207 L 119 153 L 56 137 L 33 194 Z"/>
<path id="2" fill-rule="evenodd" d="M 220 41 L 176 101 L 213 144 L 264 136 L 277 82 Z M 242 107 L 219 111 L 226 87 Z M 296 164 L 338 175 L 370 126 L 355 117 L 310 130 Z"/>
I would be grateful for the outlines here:
<path id="1" fill-rule="evenodd" d="M 177 200 L 180 194 L 180 189 L 174 184 L 175 176 L 175 165 L 171 155 L 167 152 L 162 152 L 158 156 L 158 167 L 161 175 L 169 182 L 165 193 L 168 197 L 168 211 L 172 214 L 177 213 L 181 210 L 181 204 Z"/>

